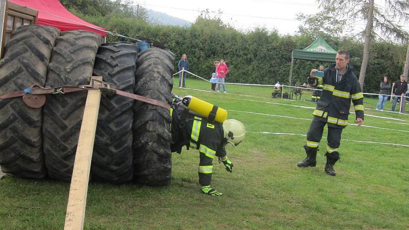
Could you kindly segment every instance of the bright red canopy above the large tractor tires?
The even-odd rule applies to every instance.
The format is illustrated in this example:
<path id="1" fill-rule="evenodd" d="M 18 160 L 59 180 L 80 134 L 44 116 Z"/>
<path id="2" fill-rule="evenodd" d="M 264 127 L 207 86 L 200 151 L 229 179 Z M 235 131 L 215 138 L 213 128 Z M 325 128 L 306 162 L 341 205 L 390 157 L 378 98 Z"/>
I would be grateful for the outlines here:
<path id="1" fill-rule="evenodd" d="M 106 37 L 106 29 L 95 26 L 67 11 L 58 0 L 9 0 L 10 2 L 38 10 L 37 24 L 52 26 L 61 31 L 88 30 Z"/>

